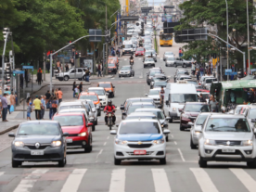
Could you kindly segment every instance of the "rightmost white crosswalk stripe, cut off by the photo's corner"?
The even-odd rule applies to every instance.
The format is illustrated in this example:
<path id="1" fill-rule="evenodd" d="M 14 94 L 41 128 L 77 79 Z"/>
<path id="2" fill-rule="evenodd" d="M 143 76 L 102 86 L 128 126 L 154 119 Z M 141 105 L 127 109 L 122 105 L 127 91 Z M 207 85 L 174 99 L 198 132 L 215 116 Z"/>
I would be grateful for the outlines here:
<path id="1" fill-rule="evenodd" d="M 254 192 L 256 188 L 255 180 L 250 176 L 249 173 L 246 173 L 243 169 L 229 169 L 232 173 L 237 176 L 237 179 L 250 191 Z"/>

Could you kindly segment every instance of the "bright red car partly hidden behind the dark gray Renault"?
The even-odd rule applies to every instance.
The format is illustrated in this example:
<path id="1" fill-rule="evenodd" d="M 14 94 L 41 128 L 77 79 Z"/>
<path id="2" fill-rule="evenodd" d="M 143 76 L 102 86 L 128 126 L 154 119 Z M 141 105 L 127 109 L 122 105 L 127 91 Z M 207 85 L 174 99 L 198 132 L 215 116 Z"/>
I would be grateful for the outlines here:
<path id="1" fill-rule="evenodd" d="M 80 147 L 87 153 L 92 151 L 93 123 L 88 122 L 83 112 L 56 113 L 53 120 L 59 122 L 63 133 L 70 134 L 66 138 L 68 148 Z"/>

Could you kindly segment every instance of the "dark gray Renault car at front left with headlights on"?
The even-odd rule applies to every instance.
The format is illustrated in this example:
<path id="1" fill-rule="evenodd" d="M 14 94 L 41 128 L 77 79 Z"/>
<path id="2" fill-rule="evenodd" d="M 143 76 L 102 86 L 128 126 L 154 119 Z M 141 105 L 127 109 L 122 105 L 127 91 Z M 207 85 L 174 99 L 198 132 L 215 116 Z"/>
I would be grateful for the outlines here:
<path id="1" fill-rule="evenodd" d="M 58 166 L 66 164 L 67 144 L 61 127 L 56 121 L 22 122 L 11 144 L 12 167 L 24 161 L 57 161 Z"/>

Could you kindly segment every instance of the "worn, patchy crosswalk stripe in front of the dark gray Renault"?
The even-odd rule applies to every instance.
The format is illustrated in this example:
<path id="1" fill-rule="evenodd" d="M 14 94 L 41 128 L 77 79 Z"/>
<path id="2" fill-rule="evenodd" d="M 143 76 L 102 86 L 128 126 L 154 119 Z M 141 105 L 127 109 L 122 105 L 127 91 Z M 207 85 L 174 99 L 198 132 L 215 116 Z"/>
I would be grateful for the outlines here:
<path id="1" fill-rule="evenodd" d="M 34 170 L 32 173 L 28 174 L 24 179 L 21 179 L 19 185 L 15 188 L 14 192 L 29 192 L 32 186 L 37 182 L 40 177 L 48 172 L 48 170 Z"/>

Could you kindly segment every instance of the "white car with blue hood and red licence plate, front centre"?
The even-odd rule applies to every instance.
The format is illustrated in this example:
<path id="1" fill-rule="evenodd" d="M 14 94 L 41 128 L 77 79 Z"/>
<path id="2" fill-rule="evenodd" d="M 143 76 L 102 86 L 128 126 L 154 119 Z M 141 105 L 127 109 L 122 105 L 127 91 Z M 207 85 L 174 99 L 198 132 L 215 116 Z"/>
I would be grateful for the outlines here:
<path id="1" fill-rule="evenodd" d="M 137 119 L 123 120 L 114 141 L 114 163 L 120 165 L 122 160 L 160 160 L 166 164 L 166 140 L 158 120 Z"/>

